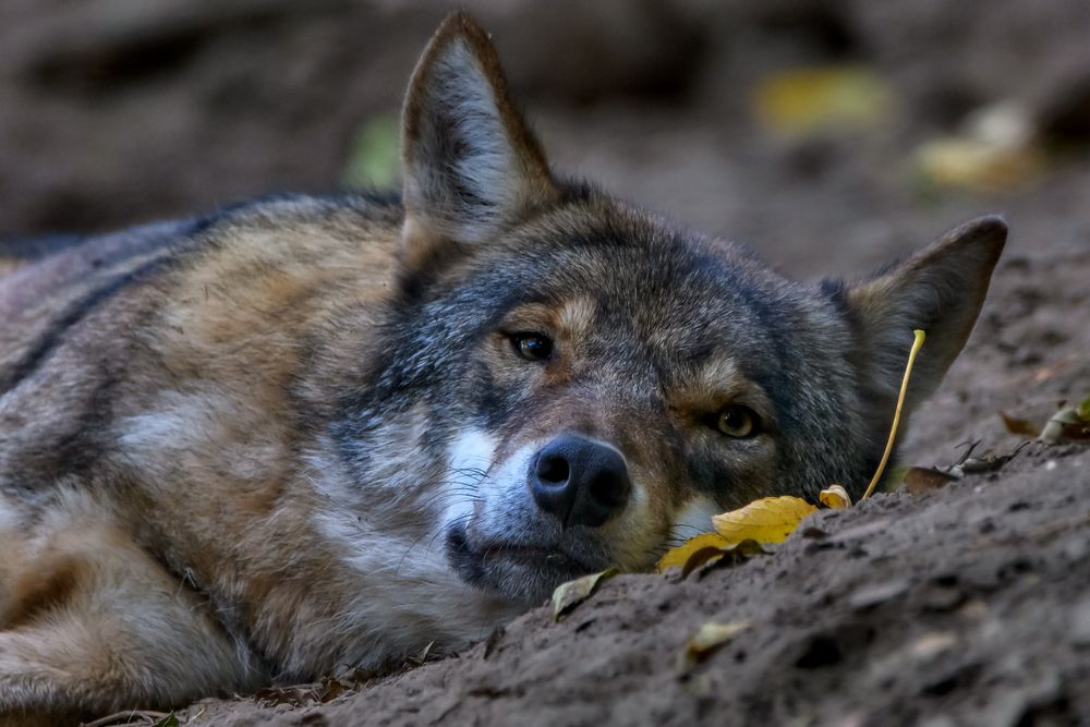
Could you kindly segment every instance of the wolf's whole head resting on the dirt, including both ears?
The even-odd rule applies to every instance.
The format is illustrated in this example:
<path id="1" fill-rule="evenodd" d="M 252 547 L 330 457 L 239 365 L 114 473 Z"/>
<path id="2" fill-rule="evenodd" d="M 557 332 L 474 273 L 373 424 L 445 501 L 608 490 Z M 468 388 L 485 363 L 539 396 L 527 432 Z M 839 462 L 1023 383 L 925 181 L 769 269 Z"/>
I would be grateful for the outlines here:
<path id="1" fill-rule="evenodd" d="M 428 509 L 463 581 L 516 603 L 645 568 L 759 496 L 858 495 L 912 329 L 908 412 L 1006 235 L 982 219 L 858 283 L 789 282 L 554 175 L 464 15 L 413 75 L 403 168 L 400 289 L 339 437 L 361 478 Z"/>

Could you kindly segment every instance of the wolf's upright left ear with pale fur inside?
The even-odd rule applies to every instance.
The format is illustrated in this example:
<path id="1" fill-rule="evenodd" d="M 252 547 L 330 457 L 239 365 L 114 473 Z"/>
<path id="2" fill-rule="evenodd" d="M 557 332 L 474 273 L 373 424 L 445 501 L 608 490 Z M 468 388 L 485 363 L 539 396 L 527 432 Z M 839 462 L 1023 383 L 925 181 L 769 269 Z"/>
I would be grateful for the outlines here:
<path id="1" fill-rule="evenodd" d="M 541 146 L 508 96 L 499 58 L 463 13 L 416 65 L 402 112 L 403 263 L 494 237 L 557 196 Z"/>

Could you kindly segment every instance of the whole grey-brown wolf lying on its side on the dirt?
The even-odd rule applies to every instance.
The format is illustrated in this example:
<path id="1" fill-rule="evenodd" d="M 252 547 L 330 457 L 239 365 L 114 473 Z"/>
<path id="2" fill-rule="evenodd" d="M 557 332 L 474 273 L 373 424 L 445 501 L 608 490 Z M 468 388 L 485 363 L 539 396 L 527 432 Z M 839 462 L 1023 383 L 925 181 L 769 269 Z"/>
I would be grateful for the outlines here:
<path id="1" fill-rule="evenodd" d="M 853 494 L 1006 238 L 869 278 L 561 178 L 486 34 L 407 94 L 400 197 L 282 195 L 0 281 L 0 715 L 53 724 L 450 652 L 759 496 Z"/>

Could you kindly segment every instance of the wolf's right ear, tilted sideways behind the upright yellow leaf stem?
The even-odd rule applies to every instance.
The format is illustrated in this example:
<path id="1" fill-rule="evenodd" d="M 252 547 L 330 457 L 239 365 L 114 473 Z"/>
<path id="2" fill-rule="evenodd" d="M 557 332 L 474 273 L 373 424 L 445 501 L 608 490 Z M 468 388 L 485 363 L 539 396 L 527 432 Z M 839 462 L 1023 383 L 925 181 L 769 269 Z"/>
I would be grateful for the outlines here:
<path id="1" fill-rule="evenodd" d="M 938 387 L 972 332 L 1006 239 L 1001 218 L 977 219 L 891 270 L 847 288 L 858 324 L 858 364 L 880 421 L 893 419 L 916 328 L 923 329 L 927 340 L 909 383 L 908 412 Z"/>

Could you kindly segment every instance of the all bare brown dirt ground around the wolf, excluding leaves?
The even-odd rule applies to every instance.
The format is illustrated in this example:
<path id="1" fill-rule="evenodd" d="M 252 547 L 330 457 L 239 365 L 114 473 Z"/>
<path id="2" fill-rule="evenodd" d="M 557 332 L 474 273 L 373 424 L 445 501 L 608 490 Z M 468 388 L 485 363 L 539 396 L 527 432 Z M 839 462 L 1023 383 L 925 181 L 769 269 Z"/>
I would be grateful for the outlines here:
<path id="1" fill-rule="evenodd" d="M 791 276 L 862 275 L 965 219 L 1006 216 L 989 302 L 913 417 L 904 463 L 949 464 L 962 443 L 1010 452 L 1025 437 L 998 412 L 1043 421 L 1057 401 L 1090 396 L 1090 7 L 468 4 L 558 169 L 746 241 Z M 396 109 L 440 5 L 4 3 L 0 237 L 335 185 L 353 130 Z M 754 118 L 762 77 L 843 62 L 889 85 L 896 107 L 881 124 L 785 137 Z M 1004 104 L 1032 130 L 1039 170 L 1002 189 L 921 184 L 913 149 Z M 749 626 L 686 662 L 707 621 Z M 685 581 L 620 575 L 559 623 L 542 607 L 457 656 L 334 699 L 323 690 L 209 700 L 178 716 L 240 727 L 1090 724 L 1090 449 L 1033 444 L 942 489 L 822 512 L 773 555 Z"/>

